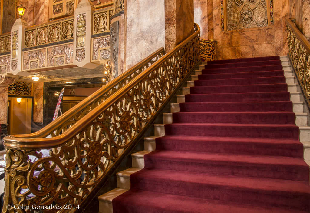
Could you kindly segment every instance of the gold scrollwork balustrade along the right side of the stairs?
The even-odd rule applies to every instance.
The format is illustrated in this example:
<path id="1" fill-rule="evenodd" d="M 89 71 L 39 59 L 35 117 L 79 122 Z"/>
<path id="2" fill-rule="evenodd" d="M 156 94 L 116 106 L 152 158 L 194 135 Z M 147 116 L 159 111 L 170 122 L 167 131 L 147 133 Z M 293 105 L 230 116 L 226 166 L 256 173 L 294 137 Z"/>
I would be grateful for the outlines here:
<path id="1" fill-rule="evenodd" d="M 307 101 L 310 103 L 310 42 L 290 19 L 286 19 L 286 24 L 289 56 Z"/>

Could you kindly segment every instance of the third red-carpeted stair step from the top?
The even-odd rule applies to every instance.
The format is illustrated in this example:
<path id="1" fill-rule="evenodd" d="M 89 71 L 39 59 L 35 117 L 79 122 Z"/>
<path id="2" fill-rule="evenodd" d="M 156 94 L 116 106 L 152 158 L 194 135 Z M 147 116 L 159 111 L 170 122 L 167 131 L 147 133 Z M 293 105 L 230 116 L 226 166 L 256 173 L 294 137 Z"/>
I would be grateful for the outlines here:
<path id="1" fill-rule="evenodd" d="M 245 73 L 245 72 L 261 72 L 283 70 L 282 65 L 273 66 L 255 66 L 255 67 L 236 67 L 222 69 L 202 69 L 200 74 L 224 74 L 224 73 Z"/>

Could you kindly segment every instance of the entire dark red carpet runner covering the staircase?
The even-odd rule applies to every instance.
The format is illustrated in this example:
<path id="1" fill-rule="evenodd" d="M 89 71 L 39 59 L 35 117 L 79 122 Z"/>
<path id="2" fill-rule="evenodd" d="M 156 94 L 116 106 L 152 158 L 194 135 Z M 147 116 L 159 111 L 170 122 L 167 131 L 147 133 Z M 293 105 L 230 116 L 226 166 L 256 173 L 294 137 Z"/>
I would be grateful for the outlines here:
<path id="1" fill-rule="evenodd" d="M 310 212 L 279 56 L 208 62 L 113 212 Z"/>

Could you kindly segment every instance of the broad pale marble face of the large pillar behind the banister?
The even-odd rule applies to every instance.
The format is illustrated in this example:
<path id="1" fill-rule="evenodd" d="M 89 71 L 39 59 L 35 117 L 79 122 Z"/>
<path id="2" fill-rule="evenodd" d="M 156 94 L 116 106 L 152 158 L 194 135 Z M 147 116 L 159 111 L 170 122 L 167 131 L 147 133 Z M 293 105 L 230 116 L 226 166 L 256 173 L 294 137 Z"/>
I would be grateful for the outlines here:
<path id="1" fill-rule="evenodd" d="M 128 0 L 126 2 L 126 70 L 165 47 L 165 2 Z"/>

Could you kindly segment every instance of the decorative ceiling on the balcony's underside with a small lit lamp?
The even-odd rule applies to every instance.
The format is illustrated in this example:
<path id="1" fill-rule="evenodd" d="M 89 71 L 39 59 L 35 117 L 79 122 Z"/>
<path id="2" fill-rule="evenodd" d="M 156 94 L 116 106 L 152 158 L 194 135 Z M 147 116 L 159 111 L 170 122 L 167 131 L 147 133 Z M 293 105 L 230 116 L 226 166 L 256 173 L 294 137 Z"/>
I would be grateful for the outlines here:
<path id="1" fill-rule="evenodd" d="M 98 66 L 96 69 L 85 69 L 79 67 L 69 69 L 56 69 L 50 71 L 31 73 L 31 75 L 29 75 L 28 77 L 18 75 L 15 81 L 24 81 L 33 83 L 34 81 L 32 80 L 32 75 L 36 75 L 40 78 L 39 81 L 37 82 L 103 77 L 105 76 L 104 71 L 105 69 L 103 65 Z"/>

